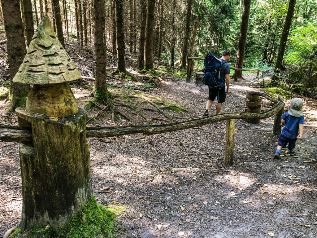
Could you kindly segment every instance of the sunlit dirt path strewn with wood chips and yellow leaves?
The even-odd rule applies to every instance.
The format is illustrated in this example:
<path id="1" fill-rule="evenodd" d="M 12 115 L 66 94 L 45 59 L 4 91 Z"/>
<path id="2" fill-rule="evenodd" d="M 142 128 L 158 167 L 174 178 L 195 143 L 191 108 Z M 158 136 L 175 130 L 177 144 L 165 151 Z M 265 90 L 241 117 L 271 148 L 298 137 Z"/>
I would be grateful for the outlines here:
<path id="1" fill-rule="evenodd" d="M 207 92 L 165 79 L 154 96 L 186 105 L 201 116 Z M 246 81 L 232 84 L 221 112 L 244 111 Z M 258 90 L 258 89 L 257 89 Z M 150 94 L 149 93 L 149 94 Z M 263 103 L 263 109 L 271 107 Z M 222 168 L 225 122 L 143 137 L 89 139 L 92 183 L 101 204 L 126 206 L 118 238 L 317 237 L 317 112 L 305 105 L 304 137 L 296 156 L 273 159 L 273 118 L 254 125 L 236 120 L 234 166 Z M 215 105 L 212 106 L 215 110 Z M 14 118 L 13 124 L 14 124 Z M 19 143 L 0 142 L 0 220 L 3 235 L 21 209 Z M 284 176 L 285 175 L 285 176 Z M 107 192 L 100 188 L 110 186 Z M 310 225 L 310 227 L 305 227 Z"/>

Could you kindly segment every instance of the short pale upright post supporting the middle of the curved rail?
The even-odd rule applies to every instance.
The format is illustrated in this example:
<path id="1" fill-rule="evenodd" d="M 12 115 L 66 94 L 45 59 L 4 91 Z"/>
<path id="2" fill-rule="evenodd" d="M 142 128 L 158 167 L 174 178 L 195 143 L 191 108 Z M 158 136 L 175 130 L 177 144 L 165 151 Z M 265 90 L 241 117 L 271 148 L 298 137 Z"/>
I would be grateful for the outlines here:
<path id="1" fill-rule="evenodd" d="M 224 155 L 224 166 L 232 166 L 233 146 L 235 143 L 235 123 L 234 119 L 226 120 L 226 147 Z"/>

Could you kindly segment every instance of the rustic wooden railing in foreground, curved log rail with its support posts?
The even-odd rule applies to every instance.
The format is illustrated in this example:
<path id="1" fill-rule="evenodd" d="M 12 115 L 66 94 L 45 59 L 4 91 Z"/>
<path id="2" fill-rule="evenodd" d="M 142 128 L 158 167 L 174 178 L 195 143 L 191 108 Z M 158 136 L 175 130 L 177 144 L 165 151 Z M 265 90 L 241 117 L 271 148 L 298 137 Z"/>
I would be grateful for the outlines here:
<path id="1" fill-rule="evenodd" d="M 232 165 L 233 159 L 233 144 L 234 144 L 234 128 L 235 119 L 263 119 L 275 115 L 273 133 L 279 134 L 281 132 L 281 115 L 284 109 L 284 102 L 282 97 L 277 99 L 268 96 L 265 93 L 248 91 L 249 94 L 263 96 L 276 105 L 262 113 L 250 112 L 232 112 L 215 114 L 206 117 L 200 117 L 192 120 L 157 124 L 157 125 L 128 125 L 128 126 L 112 126 L 112 127 L 87 127 L 86 137 L 110 137 L 110 136 L 123 136 L 130 134 L 142 133 L 144 136 L 153 134 L 166 133 L 171 131 L 178 131 L 190 129 L 198 126 L 207 125 L 213 122 L 220 122 L 226 120 L 226 146 L 225 146 L 225 160 L 224 164 L 227 166 Z M 21 141 L 32 142 L 32 132 L 29 128 L 10 126 L 0 124 L 0 140 L 5 142 Z"/>

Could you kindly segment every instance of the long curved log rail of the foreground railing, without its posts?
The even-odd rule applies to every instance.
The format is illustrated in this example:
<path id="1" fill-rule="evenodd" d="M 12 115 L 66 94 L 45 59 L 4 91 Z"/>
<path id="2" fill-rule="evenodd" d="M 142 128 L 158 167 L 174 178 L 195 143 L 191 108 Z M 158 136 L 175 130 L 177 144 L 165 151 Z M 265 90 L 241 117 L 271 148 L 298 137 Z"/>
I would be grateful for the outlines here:
<path id="1" fill-rule="evenodd" d="M 257 94 L 260 92 L 252 92 L 251 94 Z M 249 92 L 249 93 L 250 93 Z M 263 94 L 263 95 L 262 95 Z M 268 98 L 273 101 L 270 96 L 261 93 L 261 96 Z M 275 99 L 276 100 L 276 99 Z M 284 106 L 282 97 L 280 96 L 276 100 L 277 104 L 270 110 L 262 113 L 249 113 L 249 112 L 232 112 L 222 113 L 206 117 L 200 117 L 188 121 L 173 122 L 167 124 L 156 124 L 156 125 L 128 125 L 128 126 L 115 126 L 115 127 L 87 127 L 86 137 L 109 137 L 109 136 L 123 136 L 130 134 L 142 133 L 144 136 L 153 134 L 166 133 L 171 131 L 178 131 L 183 129 L 190 129 L 203 125 L 210 124 L 212 122 L 219 122 L 227 119 L 263 119 L 275 115 Z M 26 130 L 21 127 L 14 127 L 0 124 L 0 140 L 2 141 L 31 141 L 32 133 L 30 129 Z"/>

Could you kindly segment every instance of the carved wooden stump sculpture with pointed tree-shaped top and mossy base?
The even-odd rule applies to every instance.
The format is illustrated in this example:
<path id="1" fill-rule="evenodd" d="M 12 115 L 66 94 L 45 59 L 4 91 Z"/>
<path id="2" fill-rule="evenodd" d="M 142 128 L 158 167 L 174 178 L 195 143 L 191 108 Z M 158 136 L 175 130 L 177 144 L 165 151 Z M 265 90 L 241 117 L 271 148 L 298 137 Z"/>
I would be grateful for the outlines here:
<path id="1" fill-rule="evenodd" d="M 89 220 L 81 219 L 87 216 L 82 211 L 85 206 L 86 212 L 94 213 L 93 218 L 87 216 L 91 218 L 87 227 L 94 235 L 83 235 L 84 229 L 78 237 L 103 237 L 100 226 L 105 226 L 107 211 L 92 193 L 86 113 L 78 109 L 68 85 L 80 77 L 56 38 L 49 17 L 44 16 L 13 79 L 34 84 L 26 108 L 16 109 L 19 125 L 31 127 L 33 142 L 20 147 L 23 209 L 20 229 L 10 237 L 43 237 L 38 231 L 33 234 L 34 227 L 44 227 L 45 233 L 47 225 L 50 236 L 45 237 L 64 237 L 58 236 L 61 230 L 63 235 L 70 230 L 74 233 L 74 227 L 70 228 L 74 215 L 79 216 L 79 223 Z M 94 218 L 98 213 L 99 218 Z"/>

